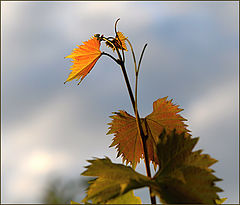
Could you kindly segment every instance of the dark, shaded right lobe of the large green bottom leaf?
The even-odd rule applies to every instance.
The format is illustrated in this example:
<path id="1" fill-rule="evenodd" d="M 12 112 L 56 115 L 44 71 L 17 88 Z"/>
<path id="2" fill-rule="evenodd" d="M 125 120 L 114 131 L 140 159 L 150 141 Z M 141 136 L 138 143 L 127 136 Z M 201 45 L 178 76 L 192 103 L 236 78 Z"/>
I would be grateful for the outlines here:
<path id="1" fill-rule="evenodd" d="M 154 176 L 155 193 L 163 203 L 215 204 L 219 199 L 215 186 L 220 179 L 209 166 L 216 162 L 201 150 L 192 152 L 198 138 L 185 133 L 163 132 L 159 137 L 157 153 L 159 170 Z"/>

